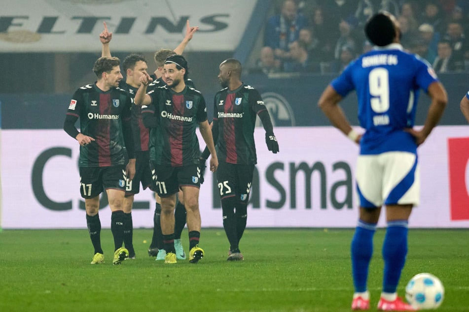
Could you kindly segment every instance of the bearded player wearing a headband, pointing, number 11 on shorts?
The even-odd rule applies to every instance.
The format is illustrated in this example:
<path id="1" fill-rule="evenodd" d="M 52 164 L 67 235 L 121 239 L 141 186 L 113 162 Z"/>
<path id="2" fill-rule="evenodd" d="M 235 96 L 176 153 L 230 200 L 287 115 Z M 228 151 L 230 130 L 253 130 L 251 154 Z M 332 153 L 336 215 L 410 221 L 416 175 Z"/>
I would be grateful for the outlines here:
<path id="1" fill-rule="evenodd" d="M 199 126 L 202 138 L 212 157 L 211 171 L 218 160 L 212 131 L 207 121 L 207 107 L 203 95 L 185 85 L 187 62 L 180 55 L 170 56 L 164 64 L 166 85 L 146 94 L 151 78 L 141 77 L 135 104 L 142 106 L 143 122 L 150 128 L 150 168 L 153 183 L 161 197 L 161 230 L 163 232 L 165 263 L 176 263 L 174 249 L 174 210 L 176 194 L 182 190 L 189 231 L 189 262 L 197 263 L 204 256 L 199 247 L 201 219 L 199 212 L 200 169 Z"/>

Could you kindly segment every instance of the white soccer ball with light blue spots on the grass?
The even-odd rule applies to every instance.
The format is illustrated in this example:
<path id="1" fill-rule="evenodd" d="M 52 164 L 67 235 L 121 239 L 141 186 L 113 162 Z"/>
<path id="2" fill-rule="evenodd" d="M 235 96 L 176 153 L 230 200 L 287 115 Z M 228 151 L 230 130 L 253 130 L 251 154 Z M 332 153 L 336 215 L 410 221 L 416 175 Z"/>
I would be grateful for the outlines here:
<path id="1" fill-rule="evenodd" d="M 443 284 L 430 273 L 417 274 L 405 286 L 405 299 L 419 310 L 436 309 L 443 302 L 443 298 Z"/>

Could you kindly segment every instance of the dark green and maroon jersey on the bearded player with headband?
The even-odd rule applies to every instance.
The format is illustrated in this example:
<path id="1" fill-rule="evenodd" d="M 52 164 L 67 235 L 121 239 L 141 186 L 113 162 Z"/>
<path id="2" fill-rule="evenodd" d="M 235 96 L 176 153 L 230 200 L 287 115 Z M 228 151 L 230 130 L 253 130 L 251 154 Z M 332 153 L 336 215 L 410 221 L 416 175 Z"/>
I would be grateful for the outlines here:
<path id="1" fill-rule="evenodd" d="M 143 118 L 156 119 L 155 127 L 150 128 L 150 160 L 173 167 L 198 164 L 200 150 L 195 130 L 207 120 L 204 96 L 188 86 L 176 93 L 166 85 L 147 94 L 151 104 L 142 106 Z"/>

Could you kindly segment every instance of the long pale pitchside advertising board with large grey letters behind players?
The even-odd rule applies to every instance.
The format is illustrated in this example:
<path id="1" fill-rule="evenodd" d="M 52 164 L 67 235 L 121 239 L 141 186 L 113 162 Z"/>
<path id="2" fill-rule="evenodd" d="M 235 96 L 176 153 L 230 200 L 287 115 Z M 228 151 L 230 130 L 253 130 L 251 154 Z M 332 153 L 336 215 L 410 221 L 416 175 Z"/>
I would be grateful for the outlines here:
<path id="1" fill-rule="evenodd" d="M 333 127 L 278 127 L 275 134 L 278 154 L 267 151 L 263 129 L 255 131 L 258 164 L 248 227 L 354 227 L 358 146 Z M 419 148 L 421 204 L 411 227 L 469 227 L 467 134 L 468 126 L 439 126 Z M 75 140 L 59 129 L 3 129 L 1 147 L 3 228 L 86 228 Z M 152 227 L 153 194 L 147 189 L 135 200 L 134 227 Z M 200 210 L 203 227 L 222 227 L 210 172 L 200 189 Z M 108 206 L 100 216 L 109 227 Z"/>

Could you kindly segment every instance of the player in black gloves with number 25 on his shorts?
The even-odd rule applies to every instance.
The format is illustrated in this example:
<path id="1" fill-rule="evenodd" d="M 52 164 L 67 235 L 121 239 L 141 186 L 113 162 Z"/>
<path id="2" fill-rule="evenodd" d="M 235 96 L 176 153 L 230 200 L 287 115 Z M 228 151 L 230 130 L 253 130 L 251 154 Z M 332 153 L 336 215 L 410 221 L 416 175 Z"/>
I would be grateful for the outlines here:
<path id="1" fill-rule="evenodd" d="M 223 228 L 230 243 L 227 260 L 236 261 L 244 260 L 239 242 L 246 228 L 249 192 L 257 163 L 254 144 L 257 116 L 265 130 L 268 150 L 278 153 L 279 144 L 259 92 L 241 81 L 241 63 L 227 59 L 219 68 L 218 79 L 223 89 L 215 94 L 212 126 L 219 159 L 216 179 L 220 189 Z M 208 155 L 209 151 L 205 149 L 202 163 Z"/>

